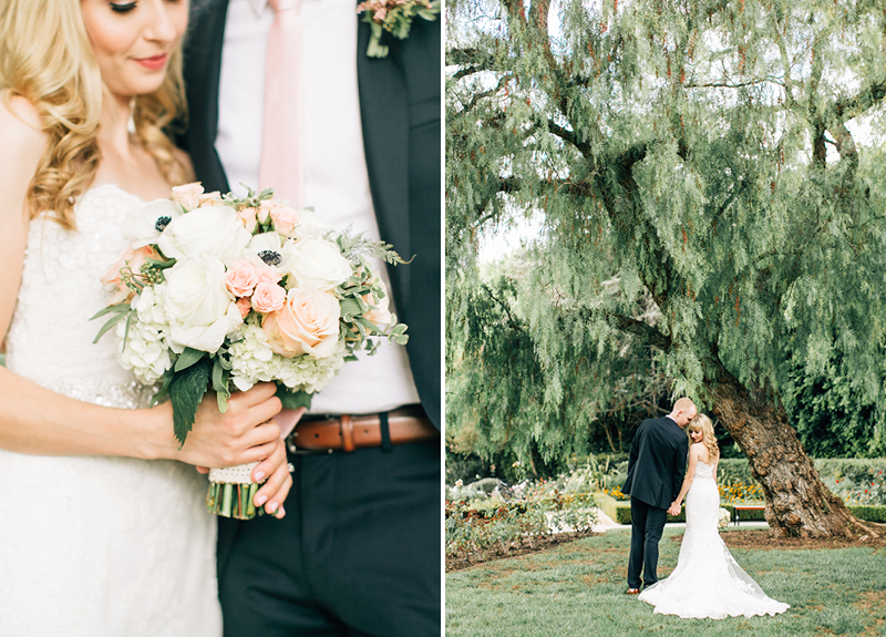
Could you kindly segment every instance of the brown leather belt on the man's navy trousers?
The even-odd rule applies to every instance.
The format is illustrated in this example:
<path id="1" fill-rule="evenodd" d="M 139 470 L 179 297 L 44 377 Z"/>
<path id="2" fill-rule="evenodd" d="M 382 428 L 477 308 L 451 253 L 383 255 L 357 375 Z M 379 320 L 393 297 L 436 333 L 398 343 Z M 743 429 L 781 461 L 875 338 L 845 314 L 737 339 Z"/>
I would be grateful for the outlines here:
<path id="1" fill-rule="evenodd" d="M 421 407 L 389 411 L 387 417 L 390 444 L 420 442 L 440 435 Z M 332 453 L 367 446 L 385 446 L 382 420 L 380 414 L 369 413 L 300 421 L 289 434 L 287 444 L 292 453 L 299 451 Z"/>

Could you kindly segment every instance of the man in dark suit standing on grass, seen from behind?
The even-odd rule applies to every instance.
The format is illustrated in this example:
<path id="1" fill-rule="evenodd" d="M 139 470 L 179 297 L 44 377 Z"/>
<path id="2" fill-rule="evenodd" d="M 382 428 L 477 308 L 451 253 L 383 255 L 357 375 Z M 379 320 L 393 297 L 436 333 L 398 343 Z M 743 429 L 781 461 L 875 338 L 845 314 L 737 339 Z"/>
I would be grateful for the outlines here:
<path id="1" fill-rule="evenodd" d="M 633 435 L 628 479 L 622 487 L 630 495 L 628 595 L 640 592 L 641 571 L 645 586 L 658 582 L 658 543 L 686 472 L 689 444 L 683 428 L 696 413 L 693 402 L 681 398 L 664 418 L 642 421 Z"/>

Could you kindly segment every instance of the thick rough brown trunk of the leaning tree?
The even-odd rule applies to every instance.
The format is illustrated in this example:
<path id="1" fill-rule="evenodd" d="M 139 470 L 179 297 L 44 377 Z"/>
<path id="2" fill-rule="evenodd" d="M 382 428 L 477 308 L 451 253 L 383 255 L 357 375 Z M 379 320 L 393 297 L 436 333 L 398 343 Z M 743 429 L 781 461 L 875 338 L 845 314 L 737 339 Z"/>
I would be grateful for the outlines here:
<path id="1" fill-rule="evenodd" d="M 766 497 L 766 522 L 783 535 L 800 537 L 878 536 L 856 520 L 822 483 L 784 409 L 755 399 L 721 368 L 713 412 L 748 455 L 751 473 Z"/>

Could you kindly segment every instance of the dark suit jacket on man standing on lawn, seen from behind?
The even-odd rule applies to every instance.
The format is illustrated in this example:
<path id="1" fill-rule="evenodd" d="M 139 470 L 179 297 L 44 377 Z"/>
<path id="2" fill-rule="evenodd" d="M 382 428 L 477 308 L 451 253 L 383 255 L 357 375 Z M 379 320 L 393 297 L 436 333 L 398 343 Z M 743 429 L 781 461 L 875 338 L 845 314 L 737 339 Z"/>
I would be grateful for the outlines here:
<path id="1" fill-rule="evenodd" d="M 689 454 L 686 432 L 670 418 L 642 421 L 633 434 L 622 492 L 668 508 L 680 494 Z"/>

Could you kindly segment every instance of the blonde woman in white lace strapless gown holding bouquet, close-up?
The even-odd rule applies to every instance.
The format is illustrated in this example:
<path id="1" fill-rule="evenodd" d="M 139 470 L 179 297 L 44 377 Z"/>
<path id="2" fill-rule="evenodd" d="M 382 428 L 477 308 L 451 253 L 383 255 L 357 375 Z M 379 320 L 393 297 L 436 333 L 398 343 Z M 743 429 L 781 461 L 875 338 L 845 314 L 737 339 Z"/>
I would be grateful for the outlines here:
<path id="1" fill-rule="evenodd" d="M 92 345 L 121 222 L 190 178 L 186 0 L 0 0 L 0 635 L 222 634 L 215 521 L 190 465 L 291 477 L 272 384 L 209 394 L 183 448 L 168 403 Z M 187 463 L 187 464 L 185 464 Z"/>

